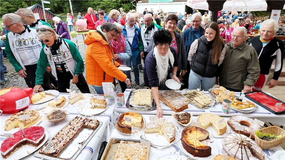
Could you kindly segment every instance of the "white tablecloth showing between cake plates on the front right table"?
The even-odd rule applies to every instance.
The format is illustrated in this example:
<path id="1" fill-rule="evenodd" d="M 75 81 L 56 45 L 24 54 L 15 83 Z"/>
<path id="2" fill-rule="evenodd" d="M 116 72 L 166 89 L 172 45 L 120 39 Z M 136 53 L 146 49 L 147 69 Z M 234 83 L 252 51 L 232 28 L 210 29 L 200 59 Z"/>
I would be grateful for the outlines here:
<path id="1" fill-rule="evenodd" d="M 146 123 L 149 122 L 149 116 L 151 115 L 142 115 L 145 120 L 146 120 Z M 172 116 L 163 116 L 165 119 L 168 119 L 170 120 L 171 122 L 173 122 L 174 125 L 176 125 L 178 128 L 179 128 L 179 134 L 180 134 L 180 137 L 181 137 L 181 132 L 184 128 L 184 126 L 181 126 L 180 124 L 177 123 L 176 120 L 174 120 L 174 118 Z M 193 121 L 195 121 L 197 118 L 197 116 L 193 116 Z M 225 120 L 228 120 L 229 117 L 223 117 Z M 227 127 L 229 127 L 227 125 Z M 233 131 L 232 131 L 233 132 Z M 144 130 L 134 134 L 134 135 L 124 135 L 124 134 L 121 134 L 119 131 L 117 131 L 116 128 L 114 128 L 113 132 L 112 132 L 112 135 L 111 137 L 114 137 L 114 138 L 123 138 L 123 139 L 139 139 L 140 140 L 140 135 L 143 135 L 144 134 Z M 219 146 L 219 154 L 225 154 L 225 152 L 222 150 L 222 140 L 223 138 L 214 138 L 215 141 L 217 142 L 218 146 Z M 177 142 L 179 143 L 179 142 Z M 179 147 L 177 145 L 177 143 L 173 144 L 172 146 L 170 147 L 167 147 L 167 148 L 164 148 L 164 149 L 157 149 L 155 147 L 151 147 L 150 148 L 150 159 L 157 159 L 165 154 L 180 154 L 180 155 L 183 155 L 183 156 L 186 156 L 184 155 L 180 150 L 179 150 Z M 277 147 L 273 147 L 273 148 L 270 148 L 270 149 L 267 149 L 267 150 L 264 150 L 264 155 L 265 155 L 265 159 L 271 159 L 271 156 L 272 154 L 274 154 L 277 150 L 283 150 L 282 147 L 280 146 L 277 146 Z M 199 158 L 197 158 L 199 159 Z"/>

